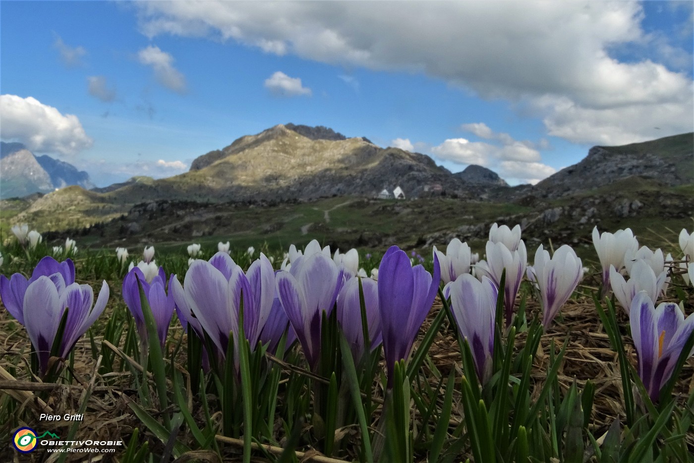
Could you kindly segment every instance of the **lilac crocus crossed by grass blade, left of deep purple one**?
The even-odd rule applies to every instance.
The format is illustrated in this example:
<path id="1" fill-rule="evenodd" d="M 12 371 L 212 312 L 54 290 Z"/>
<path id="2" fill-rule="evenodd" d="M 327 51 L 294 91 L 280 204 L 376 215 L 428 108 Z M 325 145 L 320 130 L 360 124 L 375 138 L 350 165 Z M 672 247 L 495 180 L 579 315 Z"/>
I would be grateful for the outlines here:
<path id="1" fill-rule="evenodd" d="M 369 329 L 371 350 L 382 341 L 381 318 L 378 310 L 378 283 L 371 278 L 362 278 L 366 325 Z M 355 362 L 364 355 L 364 331 L 362 330 L 362 306 L 359 303 L 359 278 L 349 279 L 337 296 L 337 323 L 352 350 Z"/>

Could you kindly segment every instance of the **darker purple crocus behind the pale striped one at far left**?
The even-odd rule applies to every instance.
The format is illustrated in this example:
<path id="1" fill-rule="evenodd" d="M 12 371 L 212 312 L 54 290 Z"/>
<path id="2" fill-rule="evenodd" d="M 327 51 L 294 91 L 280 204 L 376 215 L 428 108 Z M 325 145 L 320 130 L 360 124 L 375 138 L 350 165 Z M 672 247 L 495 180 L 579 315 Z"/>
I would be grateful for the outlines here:
<path id="1" fill-rule="evenodd" d="M 53 257 L 46 256 L 36 264 L 36 267 L 28 280 L 21 273 L 15 273 L 8 279 L 5 275 L 0 275 L 0 298 L 7 307 L 7 311 L 24 325 L 24 294 L 30 284 L 40 277 L 51 277 L 60 274 L 65 286 L 75 282 L 75 264 L 71 259 L 65 262 L 58 262 Z M 51 279 L 53 279 L 51 277 Z"/>

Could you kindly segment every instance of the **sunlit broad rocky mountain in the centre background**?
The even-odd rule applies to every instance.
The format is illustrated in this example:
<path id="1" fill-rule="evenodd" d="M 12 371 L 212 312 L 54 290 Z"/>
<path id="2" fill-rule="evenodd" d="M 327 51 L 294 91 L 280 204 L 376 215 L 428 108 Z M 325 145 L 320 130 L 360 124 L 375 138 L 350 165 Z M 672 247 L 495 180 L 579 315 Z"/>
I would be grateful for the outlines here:
<path id="1" fill-rule="evenodd" d="M 466 194 L 463 181 L 423 154 L 380 148 L 325 127 L 279 124 L 195 159 L 176 177 L 124 186 L 114 193 L 146 199 L 289 200 L 333 195 L 372 197 L 400 186 L 417 197 L 438 185 Z M 305 135 L 303 135 L 304 133 Z"/>

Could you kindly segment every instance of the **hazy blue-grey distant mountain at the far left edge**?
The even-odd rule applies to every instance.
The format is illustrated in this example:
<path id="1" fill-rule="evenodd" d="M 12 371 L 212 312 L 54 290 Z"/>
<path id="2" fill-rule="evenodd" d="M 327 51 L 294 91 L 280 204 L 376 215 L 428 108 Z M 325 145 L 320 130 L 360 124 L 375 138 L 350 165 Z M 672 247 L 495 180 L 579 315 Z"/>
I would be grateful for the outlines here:
<path id="1" fill-rule="evenodd" d="M 3 198 L 49 193 L 69 185 L 94 188 L 87 172 L 45 154 L 35 156 L 22 143 L 0 142 L 0 179 Z"/>

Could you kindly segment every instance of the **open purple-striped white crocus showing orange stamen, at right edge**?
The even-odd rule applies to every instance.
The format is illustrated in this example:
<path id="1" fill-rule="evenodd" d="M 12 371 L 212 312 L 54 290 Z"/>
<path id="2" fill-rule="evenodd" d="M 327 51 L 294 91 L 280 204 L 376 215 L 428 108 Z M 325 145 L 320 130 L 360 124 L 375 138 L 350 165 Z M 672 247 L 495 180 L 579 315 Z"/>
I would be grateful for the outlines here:
<path id="1" fill-rule="evenodd" d="M 638 376 L 648 396 L 656 401 L 694 330 L 694 314 L 685 320 L 682 309 L 672 302 L 663 302 L 655 308 L 650 296 L 639 291 L 632 300 L 629 323 L 638 352 Z M 694 349 L 689 352 L 689 357 L 692 354 Z"/>

